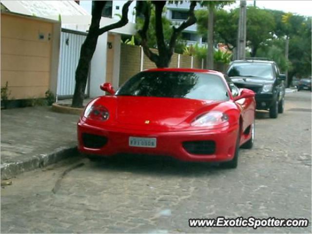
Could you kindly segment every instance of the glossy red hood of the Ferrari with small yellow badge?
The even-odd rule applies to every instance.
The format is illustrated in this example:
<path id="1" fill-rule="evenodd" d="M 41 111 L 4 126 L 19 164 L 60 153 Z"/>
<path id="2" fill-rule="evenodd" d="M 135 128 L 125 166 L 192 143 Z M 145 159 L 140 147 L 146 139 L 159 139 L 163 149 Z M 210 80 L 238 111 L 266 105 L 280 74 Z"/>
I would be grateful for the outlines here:
<path id="1" fill-rule="evenodd" d="M 176 126 L 202 108 L 210 109 L 218 103 L 220 101 L 117 96 L 115 119 L 121 124 Z"/>

